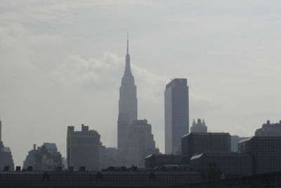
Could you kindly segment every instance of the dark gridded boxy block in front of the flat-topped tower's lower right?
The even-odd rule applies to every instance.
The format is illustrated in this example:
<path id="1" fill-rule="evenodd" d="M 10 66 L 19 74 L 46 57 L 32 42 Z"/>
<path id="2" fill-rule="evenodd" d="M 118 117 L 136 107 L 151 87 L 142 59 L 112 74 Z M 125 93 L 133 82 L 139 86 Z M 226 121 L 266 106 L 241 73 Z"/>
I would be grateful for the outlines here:
<path id="1" fill-rule="evenodd" d="M 195 133 L 192 132 L 181 138 L 182 153 L 191 158 L 198 153 L 207 151 L 230 151 L 229 133 Z"/>

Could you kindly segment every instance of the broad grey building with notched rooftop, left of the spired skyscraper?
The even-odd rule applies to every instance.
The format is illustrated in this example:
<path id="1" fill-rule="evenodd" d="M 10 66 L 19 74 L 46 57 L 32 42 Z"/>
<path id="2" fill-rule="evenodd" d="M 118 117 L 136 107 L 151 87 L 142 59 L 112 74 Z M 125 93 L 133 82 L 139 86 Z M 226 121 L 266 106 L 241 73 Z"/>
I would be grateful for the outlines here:
<path id="1" fill-rule="evenodd" d="M 81 125 L 81 131 L 67 127 L 67 165 L 74 170 L 85 167 L 86 170 L 99 170 L 100 134 Z"/>

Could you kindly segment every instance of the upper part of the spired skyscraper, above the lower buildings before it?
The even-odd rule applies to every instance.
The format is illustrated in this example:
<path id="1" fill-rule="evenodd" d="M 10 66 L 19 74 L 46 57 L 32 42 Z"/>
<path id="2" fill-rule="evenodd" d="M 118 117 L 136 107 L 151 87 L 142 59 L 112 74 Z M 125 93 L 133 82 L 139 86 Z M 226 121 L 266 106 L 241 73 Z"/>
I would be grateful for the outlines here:
<path id="1" fill-rule="evenodd" d="M 136 85 L 131 73 L 129 39 L 127 35 L 126 66 L 119 89 L 119 114 L 128 115 L 129 124 L 138 119 L 138 99 L 136 98 Z"/>

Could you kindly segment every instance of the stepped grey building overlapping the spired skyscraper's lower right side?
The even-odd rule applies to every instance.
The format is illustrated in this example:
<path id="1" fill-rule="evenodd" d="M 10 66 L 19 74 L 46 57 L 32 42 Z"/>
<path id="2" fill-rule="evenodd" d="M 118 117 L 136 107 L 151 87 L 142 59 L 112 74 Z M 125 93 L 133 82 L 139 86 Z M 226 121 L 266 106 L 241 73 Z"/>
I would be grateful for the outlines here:
<path id="1" fill-rule="evenodd" d="M 134 120 L 129 129 L 125 164 L 145 165 L 145 156 L 152 153 L 159 153 L 159 149 L 155 148 L 151 125 L 148 120 Z"/>

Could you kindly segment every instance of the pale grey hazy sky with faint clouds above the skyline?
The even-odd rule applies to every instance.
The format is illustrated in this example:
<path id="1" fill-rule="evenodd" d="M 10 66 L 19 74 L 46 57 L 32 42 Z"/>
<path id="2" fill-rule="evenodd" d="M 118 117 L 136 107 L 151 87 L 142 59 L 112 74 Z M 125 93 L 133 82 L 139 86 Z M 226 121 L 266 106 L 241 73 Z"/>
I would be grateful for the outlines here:
<path id="1" fill-rule="evenodd" d="M 190 123 L 251 136 L 281 119 L 281 2 L 0 2 L 0 114 L 15 165 L 32 144 L 66 153 L 67 125 L 117 146 L 129 31 L 139 118 L 164 152 L 164 88 L 188 78 Z"/>

